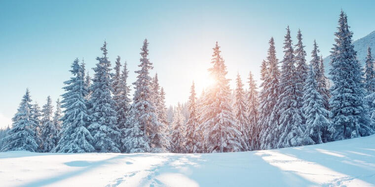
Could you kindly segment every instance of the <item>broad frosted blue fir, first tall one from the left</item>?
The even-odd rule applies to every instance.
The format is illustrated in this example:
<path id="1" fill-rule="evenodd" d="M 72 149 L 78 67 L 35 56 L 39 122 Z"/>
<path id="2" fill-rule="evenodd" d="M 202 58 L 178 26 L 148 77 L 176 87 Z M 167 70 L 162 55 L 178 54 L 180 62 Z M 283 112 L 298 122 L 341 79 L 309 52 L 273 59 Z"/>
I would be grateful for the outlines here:
<path id="1" fill-rule="evenodd" d="M 61 138 L 53 152 L 89 153 L 94 151 L 94 147 L 91 145 L 93 137 L 87 130 L 89 117 L 86 108 L 87 101 L 84 98 L 87 90 L 79 60 L 75 59 L 71 67 L 73 77 L 64 82 L 65 93 L 61 95 L 63 97 L 61 107 L 64 108 L 64 115 L 61 118 Z"/>

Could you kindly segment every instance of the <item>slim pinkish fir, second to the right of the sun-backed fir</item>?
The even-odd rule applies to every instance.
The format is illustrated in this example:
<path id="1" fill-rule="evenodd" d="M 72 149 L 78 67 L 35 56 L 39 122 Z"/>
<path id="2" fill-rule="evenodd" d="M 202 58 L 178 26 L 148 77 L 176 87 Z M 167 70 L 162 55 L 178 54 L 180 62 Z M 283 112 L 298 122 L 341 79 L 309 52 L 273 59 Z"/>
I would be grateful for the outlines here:
<path id="1" fill-rule="evenodd" d="M 247 94 L 247 118 L 249 119 L 249 150 L 259 150 L 259 133 L 260 129 L 258 126 L 259 119 L 259 101 L 258 101 L 258 91 L 257 84 L 255 83 L 253 73 L 249 72 L 249 91 Z"/>

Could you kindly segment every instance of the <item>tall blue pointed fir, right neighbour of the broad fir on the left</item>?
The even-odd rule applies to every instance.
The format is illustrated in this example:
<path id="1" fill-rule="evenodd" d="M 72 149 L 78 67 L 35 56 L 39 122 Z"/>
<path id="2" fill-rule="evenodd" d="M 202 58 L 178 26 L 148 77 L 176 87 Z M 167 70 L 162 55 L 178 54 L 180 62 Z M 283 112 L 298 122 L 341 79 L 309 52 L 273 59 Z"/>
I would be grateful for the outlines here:
<path id="1" fill-rule="evenodd" d="M 117 113 L 114 110 L 115 102 L 112 99 L 111 62 L 107 57 L 107 42 L 104 42 L 102 57 L 97 57 L 98 63 L 91 85 L 90 125 L 88 129 L 93 136 L 93 146 L 97 152 L 120 152 L 120 130 L 117 127 Z"/>

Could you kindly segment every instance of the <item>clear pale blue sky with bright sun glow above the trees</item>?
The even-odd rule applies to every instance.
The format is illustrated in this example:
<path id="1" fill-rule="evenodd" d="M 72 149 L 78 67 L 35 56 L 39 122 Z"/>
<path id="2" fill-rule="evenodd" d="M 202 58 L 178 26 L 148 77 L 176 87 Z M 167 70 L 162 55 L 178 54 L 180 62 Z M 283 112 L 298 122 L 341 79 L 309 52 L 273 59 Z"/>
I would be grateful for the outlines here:
<path id="1" fill-rule="evenodd" d="M 237 72 L 245 79 L 253 71 L 259 82 L 271 36 L 282 59 L 288 25 L 294 41 L 301 29 L 309 60 L 314 39 L 329 55 L 341 8 L 358 39 L 375 30 L 374 7 L 374 0 L 0 0 L 0 127 L 10 123 L 26 88 L 40 106 L 47 95 L 55 101 L 75 58 L 84 58 L 92 75 L 104 40 L 112 65 L 117 55 L 128 62 L 132 83 L 149 39 L 151 74 L 158 73 L 174 105 L 187 101 L 193 80 L 198 94 L 208 84 L 216 41 L 233 88 Z"/>

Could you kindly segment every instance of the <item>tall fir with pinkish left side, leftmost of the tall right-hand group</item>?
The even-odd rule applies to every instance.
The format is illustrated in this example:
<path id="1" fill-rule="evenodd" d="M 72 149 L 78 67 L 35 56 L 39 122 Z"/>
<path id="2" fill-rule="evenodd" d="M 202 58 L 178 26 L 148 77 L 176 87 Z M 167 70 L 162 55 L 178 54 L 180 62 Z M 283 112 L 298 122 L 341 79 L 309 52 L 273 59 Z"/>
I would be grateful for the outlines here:
<path id="1" fill-rule="evenodd" d="M 279 96 L 279 77 L 280 71 L 278 60 L 276 59 L 275 42 L 273 37 L 269 40 L 267 61 L 262 62 L 261 84 L 259 104 L 259 121 L 258 126 L 261 130 L 260 143 L 261 149 L 273 149 L 276 147 L 278 116 L 276 101 Z"/>

